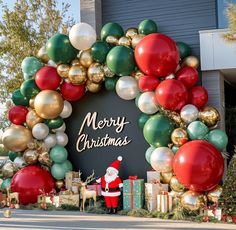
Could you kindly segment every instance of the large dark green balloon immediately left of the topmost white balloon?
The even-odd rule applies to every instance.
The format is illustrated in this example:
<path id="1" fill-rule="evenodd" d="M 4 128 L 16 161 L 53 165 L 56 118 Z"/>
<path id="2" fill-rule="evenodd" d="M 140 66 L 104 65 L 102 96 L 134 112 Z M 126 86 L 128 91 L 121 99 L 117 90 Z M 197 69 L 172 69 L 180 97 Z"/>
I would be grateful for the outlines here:
<path id="1" fill-rule="evenodd" d="M 69 37 L 65 34 L 55 34 L 46 45 L 48 57 L 56 64 L 70 63 L 76 58 L 78 50 L 70 43 Z"/>

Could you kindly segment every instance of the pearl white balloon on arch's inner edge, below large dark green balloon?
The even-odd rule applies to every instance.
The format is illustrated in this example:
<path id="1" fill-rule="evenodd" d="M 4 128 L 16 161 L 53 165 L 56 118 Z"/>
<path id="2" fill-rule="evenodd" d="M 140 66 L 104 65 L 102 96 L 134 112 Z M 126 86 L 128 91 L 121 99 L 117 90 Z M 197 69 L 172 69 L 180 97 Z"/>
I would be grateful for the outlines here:
<path id="1" fill-rule="evenodd" d="M 124 100 L 132 100 L 138 95 L 137 80 L 131 76 L 120 77 L 116 83 L 116 93 Z"/>

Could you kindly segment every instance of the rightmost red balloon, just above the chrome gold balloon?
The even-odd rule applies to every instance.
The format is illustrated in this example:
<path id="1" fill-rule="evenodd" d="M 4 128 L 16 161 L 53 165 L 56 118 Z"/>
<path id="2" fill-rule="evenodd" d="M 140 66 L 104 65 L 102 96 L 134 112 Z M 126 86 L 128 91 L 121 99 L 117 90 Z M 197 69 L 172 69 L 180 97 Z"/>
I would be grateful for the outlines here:
<path id="1" fill-rule="evenodd" d="M 202 86 L 195 86 L 189 91 L 188 102 L 195 105 L 198 109 L 203 107 L 208 101 L 208 92 Z"/>

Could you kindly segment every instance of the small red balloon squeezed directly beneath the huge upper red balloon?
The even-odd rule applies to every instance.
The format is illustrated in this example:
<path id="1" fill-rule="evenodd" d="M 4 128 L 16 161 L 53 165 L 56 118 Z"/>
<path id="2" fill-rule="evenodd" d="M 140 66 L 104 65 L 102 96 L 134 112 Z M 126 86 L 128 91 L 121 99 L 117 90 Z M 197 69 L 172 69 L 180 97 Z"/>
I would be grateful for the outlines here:
<path id="1" fill-rule="evenodd" d="M 142 92 L 153 91 L 159 85 L 160 81 L 154 76 L 142 76 L 139 78 L 138 86 Z"/>

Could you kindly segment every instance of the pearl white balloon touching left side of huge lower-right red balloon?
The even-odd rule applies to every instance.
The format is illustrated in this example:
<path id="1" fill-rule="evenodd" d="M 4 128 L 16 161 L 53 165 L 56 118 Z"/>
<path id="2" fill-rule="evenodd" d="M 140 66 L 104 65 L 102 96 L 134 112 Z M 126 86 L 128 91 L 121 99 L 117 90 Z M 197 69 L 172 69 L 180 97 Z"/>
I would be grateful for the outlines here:
<path id="1" fill-rule="evenodd" d="M 171 172 L 174 159 L 174 153 L 168 147 L 156 148 L 150 158 L 153 169 L 159 172 Z"/>

